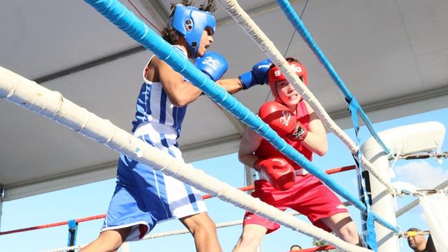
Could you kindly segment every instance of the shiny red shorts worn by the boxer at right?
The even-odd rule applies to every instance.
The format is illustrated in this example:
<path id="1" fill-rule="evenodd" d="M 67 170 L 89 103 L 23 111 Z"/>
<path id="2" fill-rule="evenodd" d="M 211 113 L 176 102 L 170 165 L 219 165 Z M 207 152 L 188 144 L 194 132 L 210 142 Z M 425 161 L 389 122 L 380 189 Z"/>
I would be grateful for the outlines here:
<path id="1" fill-rule="evenodd" d="M 333 191 L 312 174 L 296 176 L 296 184 L 286 191 L 278 191 L 266 180 L 256 180 L 254 186 L 253 197 L 282 211 L 287 208 L 294 209 L 307 216 L 314 226 L 325 231 L 331 231 L 331 229 L 320 222 L 320 219 L 334 216 L 336 213 L 348 212 Z M 243 225 L 246 224 L 258 224 L 266 227 L 266 233 L 280 228 L 276 222 L 250 212 L 245 213 Z"/>

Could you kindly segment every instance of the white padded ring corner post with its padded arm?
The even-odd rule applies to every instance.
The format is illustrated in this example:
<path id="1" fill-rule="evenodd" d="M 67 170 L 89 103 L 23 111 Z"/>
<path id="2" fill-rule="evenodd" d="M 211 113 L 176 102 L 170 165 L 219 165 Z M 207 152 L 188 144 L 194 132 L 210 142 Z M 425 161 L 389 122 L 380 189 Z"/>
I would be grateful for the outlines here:
<path id="1" fill-rule="evenodd" d="M 416 123 L 387 129 L 379 132 L 381 139 L 396 155 L 418 154 L 426 151 L 437 151 L 445 138 L 445 127 L 438 122 Z M 363 155 L 377 168 L 378 174 L 390 182 L 388 155 L 376 143 L 374 137 L 365 141 L 360 147 Z M 387 191 L 385 185 L 374 176 L 366 176 L 371 193 L 371 209 L 390 224 L 396 225 L 396 206 L 394 196 Z M 367 184 L 367 182 L 366 182 Z M 375 223 L 378 252 L 399 251 L 398 234 Z"/>

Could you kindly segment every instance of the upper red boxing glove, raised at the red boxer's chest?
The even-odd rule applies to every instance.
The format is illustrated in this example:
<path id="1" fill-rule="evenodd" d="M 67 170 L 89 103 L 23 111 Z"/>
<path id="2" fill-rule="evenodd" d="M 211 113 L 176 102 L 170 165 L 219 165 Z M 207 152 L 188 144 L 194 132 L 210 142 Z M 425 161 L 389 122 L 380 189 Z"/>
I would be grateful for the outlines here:
<path id="1" fill-rule="evenodd" d="M 268 101 L 261 105 L 258 116 L 283 138 L 302 141 L 307 137 L 308 130 L 297 120 L 291 109 L 276 101 Z"/>

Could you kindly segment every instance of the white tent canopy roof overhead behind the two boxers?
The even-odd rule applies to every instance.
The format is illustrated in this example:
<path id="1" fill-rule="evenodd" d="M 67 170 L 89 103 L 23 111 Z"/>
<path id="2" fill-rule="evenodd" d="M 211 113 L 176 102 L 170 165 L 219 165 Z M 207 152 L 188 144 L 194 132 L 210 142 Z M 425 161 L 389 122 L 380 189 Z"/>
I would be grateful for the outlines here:
<path id="1" fill-rule="evenodd" d="M 163 28 L 172 1 L 130 1 Z M 373 122 L 448 107 L 448 1 L 291 2 L 299 15 L 306 6 L 307 29 Z M 307 66 L 309 89 L 341 127 L 349 127 L 343 95 L 276 2 L 240 4 L 278 50 Z M 211 50 L 229 61 L 225 77 L 237 76 L 265 55 L 217 7 Z M 5 0 L 0 30 L 1 66 L 130 129 L 143 65 L 152 53 L 92 7 L 83 1 Z M 252 111 L 268 96 L 267 86 L 236 94 Z M 115 176 L 116 152 L 7 101 L 0 100 L 0 107 L 4 200 Z M 185 160 L 200 160 L 236 151 L 240 132 L 236 120 L 203 96 L 190 105 L 179 143 Z"/>

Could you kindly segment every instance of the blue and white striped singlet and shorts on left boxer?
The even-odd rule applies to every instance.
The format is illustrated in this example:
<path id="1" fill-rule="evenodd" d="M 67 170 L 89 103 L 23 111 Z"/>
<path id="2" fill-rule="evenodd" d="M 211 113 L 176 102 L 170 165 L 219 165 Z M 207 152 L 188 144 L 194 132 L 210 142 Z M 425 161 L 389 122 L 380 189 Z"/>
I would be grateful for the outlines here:
<path id="1" fill-rule="evenodd" d="M 181 48 L 175 48 L 187 56 Z M 176 139 L 181 134 L 187 106 L 172 105 L 161 83 L 147 81 L 147 66 L 143 71 L 145 83 L 137 98 L 132 132 L 146 143 L 175 158 L 182 158 Z M 157 222 L 204 211 L 207 208 L 200 191 L 121 155 L 116 188 L 102 231 L 132 227 L 126 240 L 138 240 L 149 233 Z"/>

